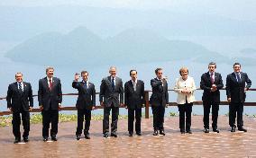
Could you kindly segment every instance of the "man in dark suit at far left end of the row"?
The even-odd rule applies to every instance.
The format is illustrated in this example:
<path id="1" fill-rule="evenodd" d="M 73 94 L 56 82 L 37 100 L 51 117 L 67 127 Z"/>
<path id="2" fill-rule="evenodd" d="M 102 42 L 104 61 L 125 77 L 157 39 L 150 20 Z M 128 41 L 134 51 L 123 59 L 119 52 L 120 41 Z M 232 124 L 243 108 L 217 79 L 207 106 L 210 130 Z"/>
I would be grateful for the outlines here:
<path id="1" fill-rule="evenodd" d="M 30 132 L 30 111 L 33 107 L 31 83 L 23 82 L 23 74 L 16 73 L 16 82 L 8 86 L 7 108 L 13 112 L 13 133 L 15 136 L 14 144 L 21 142 L 21 115 L 23 119 L 23 141 L 29 141 Z"/>

